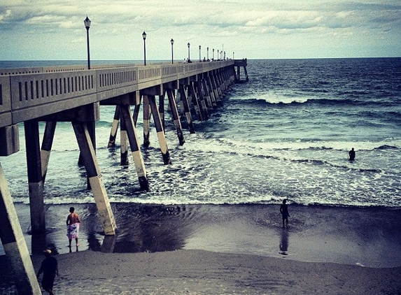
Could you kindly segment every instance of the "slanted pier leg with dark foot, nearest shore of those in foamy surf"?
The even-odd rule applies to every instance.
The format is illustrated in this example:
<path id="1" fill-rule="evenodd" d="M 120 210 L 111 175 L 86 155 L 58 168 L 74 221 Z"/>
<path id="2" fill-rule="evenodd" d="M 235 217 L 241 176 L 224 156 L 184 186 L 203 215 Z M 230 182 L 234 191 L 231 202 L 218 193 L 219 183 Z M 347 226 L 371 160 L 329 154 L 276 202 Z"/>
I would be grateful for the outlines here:
<path id="1" fill-rule="evenodd" d="M 145 164 L 143 163 L 141 150 L 139 149 L 138 136 L 136 135 L 136 129 L 134 120 L 131 117 L 129 106 L 121 106 L 121 117 L 125 122 L 127 129 L 127 135 L 129 140 L 129 146 L 131 147 L 132 157 L 134 158 L 134 164 L 136 174 L 138 175 L 139 185 L 142 190 L 149 190 L 148 176 L 146 175 Z"/>

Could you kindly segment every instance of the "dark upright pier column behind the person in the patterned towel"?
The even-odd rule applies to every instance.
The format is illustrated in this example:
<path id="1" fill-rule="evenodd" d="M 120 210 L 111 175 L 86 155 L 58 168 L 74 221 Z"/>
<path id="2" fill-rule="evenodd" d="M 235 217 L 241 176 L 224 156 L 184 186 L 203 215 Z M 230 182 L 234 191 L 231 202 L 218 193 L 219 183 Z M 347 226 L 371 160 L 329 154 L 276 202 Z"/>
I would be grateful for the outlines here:
<path id="1" fill-rule="evenodd" d="M 24 122 L 25 146 L 29 184 L 29 208 L 31 210 L 32 234 L 45 233 L 45 206 L 41 152 L 39 150 L 39 125 L 35 120 Z"/>

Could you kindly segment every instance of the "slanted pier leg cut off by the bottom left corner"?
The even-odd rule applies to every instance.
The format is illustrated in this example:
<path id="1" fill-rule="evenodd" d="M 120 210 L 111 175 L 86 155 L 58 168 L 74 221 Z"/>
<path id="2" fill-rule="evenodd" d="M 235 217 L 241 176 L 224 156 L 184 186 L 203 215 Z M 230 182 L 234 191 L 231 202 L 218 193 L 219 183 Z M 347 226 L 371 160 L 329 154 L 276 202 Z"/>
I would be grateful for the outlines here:
<path id="1" fill-rule="evenodd" d="M 0 224 L 1 243 L 10 264 L 18 294 L 42 294 L 1 164 Z"/>

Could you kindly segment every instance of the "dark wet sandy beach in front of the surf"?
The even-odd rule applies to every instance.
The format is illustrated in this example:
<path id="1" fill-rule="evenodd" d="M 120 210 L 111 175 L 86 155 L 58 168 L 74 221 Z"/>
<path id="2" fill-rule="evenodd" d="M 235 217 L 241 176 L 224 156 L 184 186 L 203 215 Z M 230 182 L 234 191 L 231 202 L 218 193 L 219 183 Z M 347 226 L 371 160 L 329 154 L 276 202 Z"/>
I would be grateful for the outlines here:
<path id="1" fill-rule="evenodd" d="M 400 210 L 290 205 L 283 229 L 278 206 L 113 204 L 119 233 L 104 238 L 82 204 L 79 251 L 69 253 L 68 208 L 47 207 L 55 294 L 401 293 Z M 36 270 L 42 259 L 32 255 Z M 0 275 L 1 294 L 15 294 L 7 268 Z"/>

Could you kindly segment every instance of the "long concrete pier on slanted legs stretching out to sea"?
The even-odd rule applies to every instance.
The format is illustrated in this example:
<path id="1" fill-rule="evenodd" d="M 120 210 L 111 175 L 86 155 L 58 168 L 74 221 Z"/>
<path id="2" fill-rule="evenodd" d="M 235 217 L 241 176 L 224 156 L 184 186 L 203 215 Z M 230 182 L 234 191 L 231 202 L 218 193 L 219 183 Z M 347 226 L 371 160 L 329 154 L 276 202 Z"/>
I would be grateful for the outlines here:
<path id="1" fill-rule="evenodd" d="M 241 67 L 248 80 L 246 59 L 92 66 L 90 70 L 86 66 L 0 69 L 0 157 L 19 152 L 19 128 L 23 125 L 32 236 L 45 233 L 43 189 L 57 122 L 72 124 L 80 149 L 79 161 L 85 166 L 87 186 L 92 189 L 104 233 L 113 236 L 117 225 L 96 157 L 95 122 L 101 106 L 115 106 L 108 146 L 115 145 L 120 127 L 120 164 L 128 163 L 130 149 L 139 187 L 149 190 L 136 130 L 140 107 L 143 147 L 149 145 L 153 117 L 162 161 L 170 164 L 164 136 L 164 100 L 168 101 L 178 143 L 183 145 L 181 119 L 185 118 L 190 133 L 195 133 L 192 120 L 208 119 L 210 110 L 217 108 L 230 85 L 241 82 Z M 42 140 L 39 122 L 45 122 Z M 41 294 L 1 161 L 0 237 L 18 292 Z"/>

